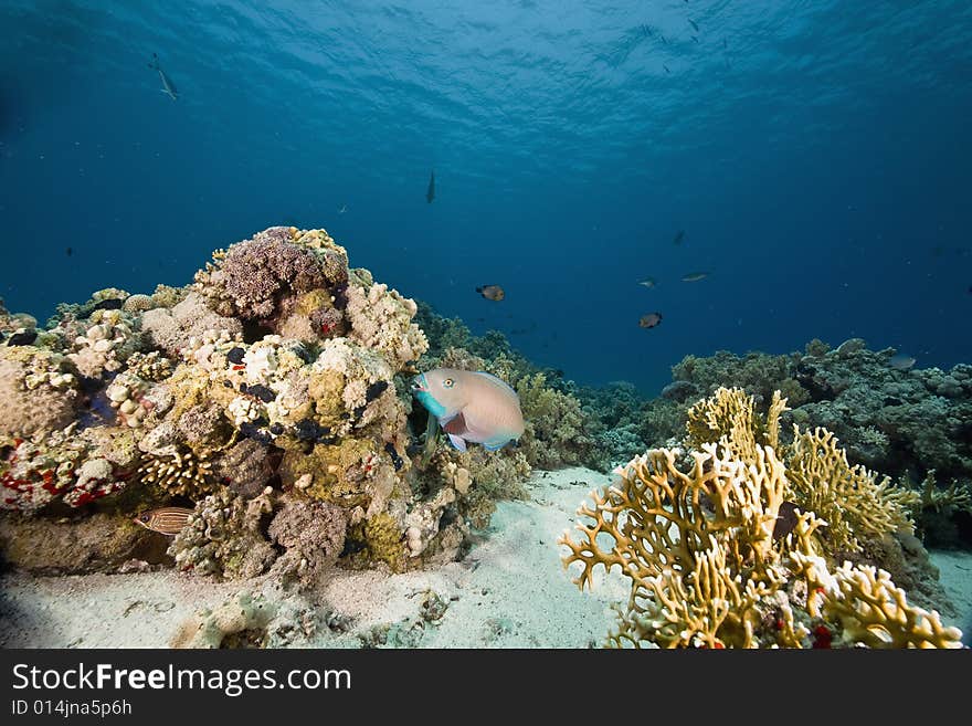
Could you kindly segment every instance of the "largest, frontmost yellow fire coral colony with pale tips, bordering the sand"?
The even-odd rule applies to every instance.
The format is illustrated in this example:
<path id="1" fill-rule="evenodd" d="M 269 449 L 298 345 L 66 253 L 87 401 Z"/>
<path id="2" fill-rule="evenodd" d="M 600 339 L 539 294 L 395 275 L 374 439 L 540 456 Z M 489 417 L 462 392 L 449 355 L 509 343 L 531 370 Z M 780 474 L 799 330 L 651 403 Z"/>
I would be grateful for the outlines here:
<path id="1" fill-rule="evenodd" d="M 786 581 L 779 564 L 782 546 L 773 537 L 784 467 L 772 449 L 754 452 L 757 462 L 746 464 L 717 444 L 704 444 L 686 473 L 677 465 L 680 452 L 654 450 L 617 470 L 621 483 L 592 493 L 594 506 L 578 511 L 592 520 L 578 525 L 582 540 L 560 539 L 570 549 L 564 564 L 582 565 L 574 581 L 590 586 L 598 566 L 615 565 L 632 581 L 610 644 L 794 643 L 789 601 L 770 597 Z M 812 527 L 800 533 L 811 547 Z M 610 549 L 602 545 L 609 540 Z M 767 618 L 785 627 L 757 635 Z"/>

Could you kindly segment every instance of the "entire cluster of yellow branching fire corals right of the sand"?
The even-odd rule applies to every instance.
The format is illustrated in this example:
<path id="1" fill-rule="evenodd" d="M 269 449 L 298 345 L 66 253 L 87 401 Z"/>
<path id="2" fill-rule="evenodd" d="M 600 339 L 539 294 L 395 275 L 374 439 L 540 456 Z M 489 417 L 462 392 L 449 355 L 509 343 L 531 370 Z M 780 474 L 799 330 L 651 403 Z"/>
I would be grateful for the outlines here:
<path id="1" fill-rule="evenodd" d="M 580 541 L 567 533 L 560 539 L 569 549 L 564 566 L 581 566 L 574 581 L 591 586 L 596 568 L 615 565 L 631 580 L 609 644 L 960 648 L 961 633 L 909 603 L 887 572 L 828 561 L 827 522 L 794 504 L 788 464 L 769 443 L 780 445 L 784 403 L 774 394 L 767 421 L 757 424 L 751 398 L 720 389 L 689 415 L 696 449 L 688 471 L 680 451 L 653 450 L 619 469 L 621 482 L 592 493 L 593 506 L 578 511 Z M 701 441 L 716 435 L 718 442 Z M 832 438 L 817 432 L 811 441 Z M 804 472 L 848 477 L 846 486 L 831 481 L 824 496 L 830 511 L 849 513 L 848 536 L 905 523 L 883 486 L 854 488 L 860 472 L 839 469 L 836 449 L 794 448 Z M 880 512 L 865 516 L 855 508 L 860 502 Z"/>

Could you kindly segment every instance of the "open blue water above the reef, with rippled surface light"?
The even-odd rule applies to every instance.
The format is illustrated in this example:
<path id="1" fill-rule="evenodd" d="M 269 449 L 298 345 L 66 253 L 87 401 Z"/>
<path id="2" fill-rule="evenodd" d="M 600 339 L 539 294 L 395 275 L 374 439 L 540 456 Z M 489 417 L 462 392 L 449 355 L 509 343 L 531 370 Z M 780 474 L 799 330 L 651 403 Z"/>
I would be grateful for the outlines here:
<path id="1" fill-rule="evenodd" d="M 286 223 L 585 383 L 814 337 L 945 367 L 970 128 L 968 0 L 2 0 L 0 295 L 43 320 Z"/>

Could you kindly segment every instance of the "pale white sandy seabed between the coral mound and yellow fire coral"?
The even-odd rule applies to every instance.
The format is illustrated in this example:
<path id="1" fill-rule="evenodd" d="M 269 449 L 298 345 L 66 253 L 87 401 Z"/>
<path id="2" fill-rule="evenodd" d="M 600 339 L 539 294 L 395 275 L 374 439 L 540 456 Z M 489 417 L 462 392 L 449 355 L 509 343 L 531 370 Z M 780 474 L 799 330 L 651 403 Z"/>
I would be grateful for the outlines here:
<path id="1" fill-rule="evenodd" d="M 626 581 L 601 574 L 593 591 L 582 593 L 561 565 L 557 538 L 573 526 L 588 493 L 610 481 L 585 469 L 537 472 L 531 501 L 499 503 L 464 560 L 403 575 L 335 570 L 304 595 L 265 579 L 214 582 L 173 570 L 8 574 L 0 648 L 169 648 L 194 613 L 244 590 L 263 593 L 287 622 L 275 631 L 277 646 L 594 646 L 614 622 L 611 604 L 627 599 Z M 933 551 L 931 559 L 955 608 L 942 619 L 968 628 L 972 554 Z"/>

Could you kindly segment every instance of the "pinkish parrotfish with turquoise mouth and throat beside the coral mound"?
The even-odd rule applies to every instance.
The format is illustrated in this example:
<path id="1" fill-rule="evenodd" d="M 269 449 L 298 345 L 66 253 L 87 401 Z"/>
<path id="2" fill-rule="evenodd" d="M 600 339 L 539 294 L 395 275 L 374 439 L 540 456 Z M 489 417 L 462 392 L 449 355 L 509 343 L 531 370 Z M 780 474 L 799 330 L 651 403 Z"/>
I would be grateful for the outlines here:
<path id="1" fill-rule="evenodd" d="M 467 442 L 496 451 L 524 433 L 519 396 L 490 373 L 434 368 L 412 379 L 412 393 L 459 451 Z"/>

